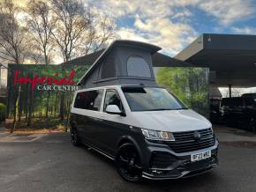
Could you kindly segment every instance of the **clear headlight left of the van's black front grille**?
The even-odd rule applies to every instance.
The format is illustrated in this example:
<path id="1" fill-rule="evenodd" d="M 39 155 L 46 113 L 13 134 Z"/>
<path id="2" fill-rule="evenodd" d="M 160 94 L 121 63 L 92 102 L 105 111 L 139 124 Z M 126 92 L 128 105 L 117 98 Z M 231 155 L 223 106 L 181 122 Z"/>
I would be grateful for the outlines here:
<path id="1" fill-rule="evenodd" d="M 150 140 L 175 141 L 172 133 L 168 131 L 141 129 L 144 137 Z"/>

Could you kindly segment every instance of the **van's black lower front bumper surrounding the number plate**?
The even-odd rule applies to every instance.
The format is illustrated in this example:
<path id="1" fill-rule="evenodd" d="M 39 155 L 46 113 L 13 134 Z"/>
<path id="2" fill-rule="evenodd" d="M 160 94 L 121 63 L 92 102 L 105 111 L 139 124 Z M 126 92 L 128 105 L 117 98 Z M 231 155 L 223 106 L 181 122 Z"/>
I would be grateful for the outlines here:
<path id="1" fill-rule="evenodd" d="M 178 179 L 203 174 L 218 165 L 218 142 L 215 145 L 200 151 L 175 153 L 169 151 L 157 151 L 153 148 L 148 168 L 142 176 L 152 180 Z M 192 162 L 191 154 L 201 151 L 211 151 L 211 157 Z M 157 155 L 155 155 L 157 154 Z"/>

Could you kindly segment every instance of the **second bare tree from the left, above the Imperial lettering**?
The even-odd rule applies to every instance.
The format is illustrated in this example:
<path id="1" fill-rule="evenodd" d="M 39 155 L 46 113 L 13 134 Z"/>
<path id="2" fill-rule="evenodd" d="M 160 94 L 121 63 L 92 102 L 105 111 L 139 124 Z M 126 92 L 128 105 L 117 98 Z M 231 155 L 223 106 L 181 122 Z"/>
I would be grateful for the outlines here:
<path id="1" fill-rule="evenodd" d="M 26 9 L 26 21 L 28 29 L 32 32 L 34 48 L 43 55 L 44 63 L 48 65 L 54 48 L 51 32 L 56 23 L 51 17 L 49 4 L 43 1 L 30 0 Z"/>

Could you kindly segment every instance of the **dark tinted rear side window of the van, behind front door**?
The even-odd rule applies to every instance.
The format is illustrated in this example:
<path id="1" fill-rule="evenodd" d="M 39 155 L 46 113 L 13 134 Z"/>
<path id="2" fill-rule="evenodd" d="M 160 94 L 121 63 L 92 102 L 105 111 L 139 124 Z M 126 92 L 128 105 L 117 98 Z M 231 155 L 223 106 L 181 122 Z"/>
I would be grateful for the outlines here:
<path id="1" fill-rule="evenodd" d="M 99 111 L 102 102 L 102 93 L 103 90 L 78 92 L 74 107 Z"/>

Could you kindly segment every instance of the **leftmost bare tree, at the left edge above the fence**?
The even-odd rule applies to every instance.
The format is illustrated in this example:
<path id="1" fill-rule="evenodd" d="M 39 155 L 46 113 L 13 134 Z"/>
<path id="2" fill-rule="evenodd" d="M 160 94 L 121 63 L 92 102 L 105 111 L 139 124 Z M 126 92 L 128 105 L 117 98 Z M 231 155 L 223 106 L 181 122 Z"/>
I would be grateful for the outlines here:
<path id="1" fill-rule="evenodd" d="M 26 55 L 26 29 L 19 25 L 19 8 L 10 0 L 0 6 L 0 58 L 9 63 L 23 63 Z"/>

